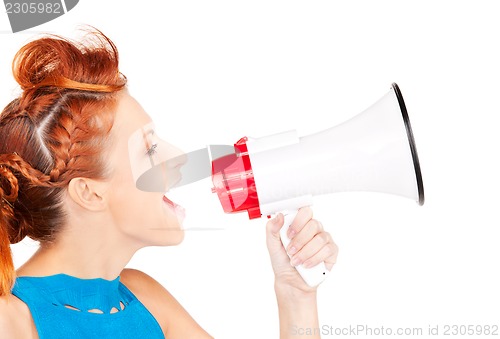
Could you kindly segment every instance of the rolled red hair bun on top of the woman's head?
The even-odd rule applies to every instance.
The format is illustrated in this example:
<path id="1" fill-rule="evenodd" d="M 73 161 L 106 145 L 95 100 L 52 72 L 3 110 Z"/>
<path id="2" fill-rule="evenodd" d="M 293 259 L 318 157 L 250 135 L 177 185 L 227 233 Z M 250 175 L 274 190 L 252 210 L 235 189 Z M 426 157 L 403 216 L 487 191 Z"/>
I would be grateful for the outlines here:
<path id="1" fill-rule="evenodd" d="M 121 73 L 106 72 L 118 69 L 115 45 L 101 32 L 90 31 L 78 42 L 49 35 L 23 46 L 12 63 L 17 83 L 23 90 L 53 86 L 114 92 L 123 88 L 126 78 Z"/>

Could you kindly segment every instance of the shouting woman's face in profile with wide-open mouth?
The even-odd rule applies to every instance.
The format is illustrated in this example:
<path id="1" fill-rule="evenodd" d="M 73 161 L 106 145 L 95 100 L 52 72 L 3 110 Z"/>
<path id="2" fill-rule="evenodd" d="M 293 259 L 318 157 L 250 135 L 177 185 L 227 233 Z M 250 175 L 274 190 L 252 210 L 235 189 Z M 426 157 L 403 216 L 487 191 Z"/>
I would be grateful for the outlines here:
<path id="1" fill-rule="evenodd" d="M 108 195 L 115 224 L 140 246 L 179 244 L 184 238 L 184 210 L 164 192 L 138 189 L 137 171 L 146 171 L 157 154 L 162 159 L 174 159 L 164 164 L 163 175 L 170 184 L 175 183 L 180 176 L 182 152 L 158 138 L 151 118 L 128 93 L 119 96 L 111 138 Z"/>

